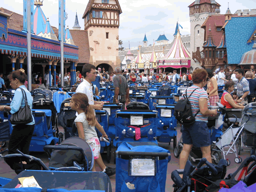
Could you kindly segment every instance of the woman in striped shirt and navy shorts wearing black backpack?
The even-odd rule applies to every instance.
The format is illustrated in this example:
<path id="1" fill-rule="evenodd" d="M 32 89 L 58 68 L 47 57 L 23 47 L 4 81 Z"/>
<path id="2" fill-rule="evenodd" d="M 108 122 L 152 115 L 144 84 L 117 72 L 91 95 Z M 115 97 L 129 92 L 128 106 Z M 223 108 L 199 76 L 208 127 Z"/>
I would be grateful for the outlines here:
<path id="1" fill-rule="evenodd" d="M 187 88 L 187 96 L 190 96 L 195 90 L 188 100 L 191 102 L 192 112 L 196 121 L 194 124 L 183 125 L 182 127 L 182 139 L 184 146 L 180 153 L 180 169 L 184 169 L 193 145 L 197 148 L 201 148 L 203 157 L 212 163 L 210 146 L 211 138 L 207 122 L 208 116 L 217 115 L 217 110 L 208 109 L 210 106 L 208 94 L 203 88 L 208 82 L 208 73 L 204 69 L 194 70 L 192 80 L 193 86 Z M 184 94 L 186 93 L 183 93 L 182 99 L 184 99 Z"/>

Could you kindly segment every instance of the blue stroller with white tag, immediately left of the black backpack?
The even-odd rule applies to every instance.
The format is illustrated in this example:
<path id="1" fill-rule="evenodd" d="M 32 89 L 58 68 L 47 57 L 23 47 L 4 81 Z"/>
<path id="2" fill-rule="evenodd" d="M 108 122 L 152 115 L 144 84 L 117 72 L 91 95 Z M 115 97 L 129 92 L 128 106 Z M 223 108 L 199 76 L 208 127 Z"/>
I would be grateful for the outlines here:
<path id="1" fill-rule="evenodd" d="M 177 120 L 173 115 L 174 107 L 172 104 L 156 105 L 156 111 L 158 111 L 157 140 L 158 142 L 169 144 L 173 140 L 173 148 L 177 144 Z"/>

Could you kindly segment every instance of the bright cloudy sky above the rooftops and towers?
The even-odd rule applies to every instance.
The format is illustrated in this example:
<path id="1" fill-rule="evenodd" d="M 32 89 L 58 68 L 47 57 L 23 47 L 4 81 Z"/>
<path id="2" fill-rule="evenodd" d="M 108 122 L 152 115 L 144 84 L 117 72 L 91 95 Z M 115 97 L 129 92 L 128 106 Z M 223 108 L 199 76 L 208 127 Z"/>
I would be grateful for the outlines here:
<path id="1" fill-rule="evenodd" d="M 137 47 L 143 44 L 146 33 L 148 45 L 153 44 L 159 35 L 165 34 L 169 43 L 173 40 L 176 22 L 179 20 L 181 35 L 190 34 L 189 8 L 194 0 L 119 0 L 120 14 L 119 40 L 123 47 Z M 239 9 L 256 9 L 255 0 L 216 0 L 221 5 L 220 14 L 225 14 L 228 8 L 232 13 Z M 77 16 L 81 29 L 84 26 L 82 16 L 88 0 L 66 0 L 68 19 L 66 26 L 72 29 Z M 0 7 L 23 15 L 23 0 L 0 0 Z M 58 0 L 44 0 L 41 7 L 44 15 L 49 17 L 52 26 L 58 26 Z"/>

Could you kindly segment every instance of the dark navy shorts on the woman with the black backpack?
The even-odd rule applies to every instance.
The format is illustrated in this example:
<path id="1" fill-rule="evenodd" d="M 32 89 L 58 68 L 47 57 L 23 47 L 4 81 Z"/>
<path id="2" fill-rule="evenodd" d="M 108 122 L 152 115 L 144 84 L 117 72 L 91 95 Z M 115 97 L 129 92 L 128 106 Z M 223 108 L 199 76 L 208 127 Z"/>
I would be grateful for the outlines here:
<path id="1" fill-rule="evenodd" d="M 196 121 L 192 125 L 183 125 L 182 140 L 184 144 L 193 144 L 194 147 L 206 147 L 211 144 L 211 136 L 207 123 Z"/>

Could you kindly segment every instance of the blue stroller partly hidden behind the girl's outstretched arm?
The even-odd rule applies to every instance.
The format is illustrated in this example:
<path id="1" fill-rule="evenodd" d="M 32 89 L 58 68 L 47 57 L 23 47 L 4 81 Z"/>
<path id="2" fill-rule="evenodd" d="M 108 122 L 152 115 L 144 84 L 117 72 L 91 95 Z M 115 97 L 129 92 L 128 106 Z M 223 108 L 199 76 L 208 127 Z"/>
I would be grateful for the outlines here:
<path id="1" fill-rule="evenodd" d="M 99 124 L 103 127 L 104 131 L 108 134 L 108 122 L 109 122 L 109 115 L 108 111 L 106 110 L 96 110 L 96 120 L 99 122 Z M 102 136 L 101 132 L 96 129 L 97 135 L 100 138 Z M 107 160 L 110 162 L 111 160 L 111 138 L 109 138 L 109 143 L 106 141 L 100 141 L 100 153 L 104 153 L 104 151 L 107 151 Z"/>

